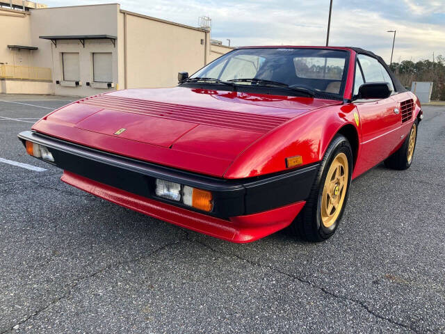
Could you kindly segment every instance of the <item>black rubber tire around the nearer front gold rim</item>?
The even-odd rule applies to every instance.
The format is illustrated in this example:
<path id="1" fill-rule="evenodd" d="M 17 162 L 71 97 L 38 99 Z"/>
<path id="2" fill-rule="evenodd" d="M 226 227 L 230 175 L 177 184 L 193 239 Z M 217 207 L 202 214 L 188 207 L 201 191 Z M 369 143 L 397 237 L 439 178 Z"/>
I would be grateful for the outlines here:
<path id="1" fill-rule="evenodd" d="M 323 187 L 325 186 L 327 173 L 330 170 L 332 162 L 341 153 L 344 153 L 348 160 L 346 194 L 343 200 L 343 204 L 340 208 L 339 216 L 337 216 L 337 219 L 332 225 L 330 225 L 329 228 L 326 228 L 325 225 L 323 225 L 323 221 L 321 218 Z M 314 184 L 312 185 L 309 197 L 306 200 L 305 207 L 302 209 L 295 221 L 293 221 L 293 223 L 289 227 L 291 233 L 300 237 L 301 239 L 313 242 L 323 241 L 332 237 L 332 234 L 334 234 L 334 232 L 339 227 L 341 217 L 343 216 L 343 212 L 346 207 L 346 202 L 348 201 L 352 173 L 353 150 L 350 146 L 350 143 L 348 142 L 348 139 L 346 139 L 346 137 L 342 136 L 341 134 L 337 134 L 337 136 L 334 137 L 334 139 L 328 146 L 325 156 L 321 161 L 320 169 L 318 170 L 318 173 L 314 180 Z"/>

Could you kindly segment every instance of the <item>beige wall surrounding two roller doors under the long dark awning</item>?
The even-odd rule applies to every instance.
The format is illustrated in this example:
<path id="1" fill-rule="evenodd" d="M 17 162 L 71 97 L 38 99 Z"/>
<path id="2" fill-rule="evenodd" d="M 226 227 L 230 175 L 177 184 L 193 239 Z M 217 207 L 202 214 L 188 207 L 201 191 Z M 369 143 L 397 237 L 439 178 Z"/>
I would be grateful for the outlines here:
<path id="1" fill-rule="evenodd" d="M 95 6 L 73 6 L 31 10 L 31 38 L 42 50 L 35 56 L 35 63 L 53 70 L 54 93 L 57 95 L 88 96 L 103 93 L 106 89 L 86 86 L 92 82 L 92 53 L 111 52 L 113 57 L 113 82 L 118 84 L 118 41 L 86 40 L 85 47 L 79 40 L 58 40 L 57 47 L 40 35 L 114 35 L 118 36 L 117 3 Z M 81 86 L 65 87 L 55 84 L 63 80 L 62 53 L 79 52 Z M 114 90 L 115 88 L 111 88 Z"/>

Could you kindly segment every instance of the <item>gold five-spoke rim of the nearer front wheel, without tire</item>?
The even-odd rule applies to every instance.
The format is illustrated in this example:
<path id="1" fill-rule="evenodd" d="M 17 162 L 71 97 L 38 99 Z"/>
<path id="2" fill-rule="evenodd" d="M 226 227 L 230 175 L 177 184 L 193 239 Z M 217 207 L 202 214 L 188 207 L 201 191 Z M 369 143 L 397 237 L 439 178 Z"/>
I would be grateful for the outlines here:
<path id="1" fill-rule="evenodd" d="M 339 153 L 327 171 L 321 198 L 321 222 L 330 228 L 341 212 L 349 180 L 349 166 L 346 154 Z"/>

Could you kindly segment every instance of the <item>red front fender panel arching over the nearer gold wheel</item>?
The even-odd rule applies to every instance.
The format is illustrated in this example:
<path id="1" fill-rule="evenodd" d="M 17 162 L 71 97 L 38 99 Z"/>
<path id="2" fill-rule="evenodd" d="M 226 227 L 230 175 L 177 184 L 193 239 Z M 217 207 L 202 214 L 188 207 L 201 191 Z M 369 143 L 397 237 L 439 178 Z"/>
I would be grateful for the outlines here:
<path id="1" fill-rule="evenodd" d="M 315 164 L 323 159 L 337 134 L 342 134 L 350 142 L 353 170 L 359 152 L 355 110 L 354 105 L 333 105 L 293 118 L 239 154 L 224 177 L 240 179 L 289 170 L 286 158 L 294 156 L 302 157 L 302 166 Z"/>

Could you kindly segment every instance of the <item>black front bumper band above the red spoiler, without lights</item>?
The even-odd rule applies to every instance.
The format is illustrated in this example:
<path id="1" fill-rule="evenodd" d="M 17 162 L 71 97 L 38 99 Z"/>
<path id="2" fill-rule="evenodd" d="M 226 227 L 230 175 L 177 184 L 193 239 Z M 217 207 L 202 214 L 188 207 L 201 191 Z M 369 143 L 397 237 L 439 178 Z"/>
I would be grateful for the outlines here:
<path id="1" fill-rule="evenodd" d="M 200 212 L 180 202 L 156 197 L 156 178 L 209 190 L 213 195 L 213 211 L 201 213 L 220 218 L 264 212 L 305 200 L 318 170 L 318 164 L 314 164 L 278 175 L 226 180 L 122 157 L 37 132 L 22 132 L 19 139 L 46 146 L 53 154 L 52 164 L 63 170 L 178 207 Z"/>

